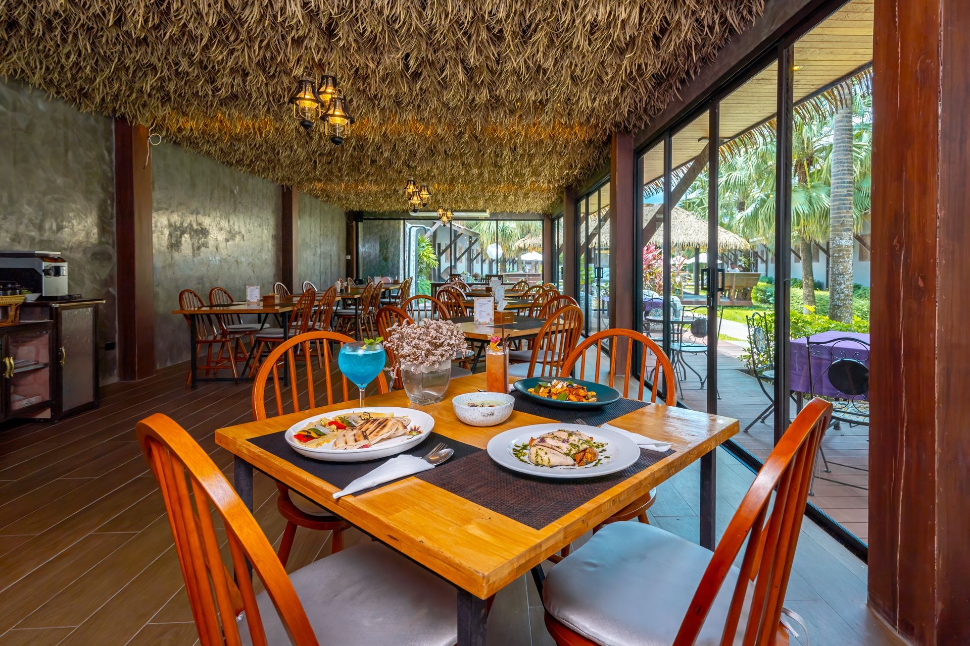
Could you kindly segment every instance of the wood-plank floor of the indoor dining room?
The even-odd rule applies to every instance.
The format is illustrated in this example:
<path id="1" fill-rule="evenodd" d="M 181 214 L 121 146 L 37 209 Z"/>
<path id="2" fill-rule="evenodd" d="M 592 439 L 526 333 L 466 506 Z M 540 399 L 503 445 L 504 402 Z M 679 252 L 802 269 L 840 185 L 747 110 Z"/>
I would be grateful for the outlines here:
<path id="1" fill-rule="evenodd" d="M 212 432 L 249 418 L 249 387 L 193 391 L 184 375 L 184 366 L 174 366 L 144 382 L 110 385 L 96 411 L 0 431 L 0 646 L 197 642 L 162 499 L 134 425 L 150 413 L 173 416 L 228 474 L 231 457 L 214 445 Z M 753 477 L 718 450 L 719 532 Z M 698 489 L 696 468 L 663 483 L 652 521 L 696 540 Z M 257 477 L 254 498 L 260 525 L 278 541 L 283 521 L 268 478 Z M 329 535 L 300 530 L 289 569 L 329 550 Z M 787 604 L 807 620 L 812 643 L 896 643 L 865 597 L 865 566 L 806 520 Z M 490 644 L 552 643 L 526 578 L 501 592 L 489 627 Z"/>

